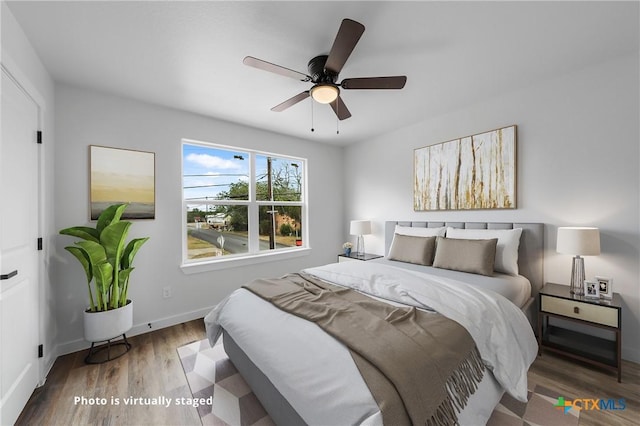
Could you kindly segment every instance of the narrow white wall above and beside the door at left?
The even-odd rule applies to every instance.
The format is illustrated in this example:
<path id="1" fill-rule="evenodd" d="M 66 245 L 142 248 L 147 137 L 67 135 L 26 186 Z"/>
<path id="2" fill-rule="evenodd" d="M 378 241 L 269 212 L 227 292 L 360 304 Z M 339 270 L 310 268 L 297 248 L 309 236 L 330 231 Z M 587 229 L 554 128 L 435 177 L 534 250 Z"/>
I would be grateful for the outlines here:
<path id="1" fill-rule="evenodd" d="M 5 2 L 1 4 L 2 15 L 2 66 L 23 86 L 40 107 L 40 125 L 44 143 L 40 147 L 42 194 L 40 196 L 40 220 L 38 226 L 43 238 L 41 255 L 40 282 L 40 343 L 44 347 L 44 359 L 40 365 L 41 378 L 44 378 L 56 359 L 55 341 L 57 324 L 53 313 L 55 285 L 48 274 L 48 253 L 51 247 L 53 225 L 54 192 L 54 83 L 40 62 L 29 40 L 25 36 Z M 27 208 L 32 208 L 28 206 Z M 34 214 L 36 212 L 31 212 Z"/>

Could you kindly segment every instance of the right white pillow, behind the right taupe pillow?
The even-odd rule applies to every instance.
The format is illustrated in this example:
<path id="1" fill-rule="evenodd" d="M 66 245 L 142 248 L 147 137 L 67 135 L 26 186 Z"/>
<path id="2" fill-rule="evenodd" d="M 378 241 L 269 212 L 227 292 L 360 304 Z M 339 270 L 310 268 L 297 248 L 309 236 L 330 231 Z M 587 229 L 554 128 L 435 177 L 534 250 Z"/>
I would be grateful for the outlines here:
<path id="1" fill-rule="evenodd" d="M 510 275 L 518 275 L 518 247 L 522 228 L 516 229 L 458 229 L 447 228 L 447 238 L 464 238 L 467 240 L 498 239 L 496 246 L 495 271 Z"/>

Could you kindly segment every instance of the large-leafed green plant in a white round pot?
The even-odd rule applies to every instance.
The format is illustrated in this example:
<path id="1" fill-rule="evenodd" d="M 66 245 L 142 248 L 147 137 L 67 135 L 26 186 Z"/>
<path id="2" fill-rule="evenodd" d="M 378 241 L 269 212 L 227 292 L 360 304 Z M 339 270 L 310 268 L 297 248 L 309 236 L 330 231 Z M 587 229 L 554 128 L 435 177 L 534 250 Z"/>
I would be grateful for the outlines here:
<path id="1" fill-rule="evenodd" d="M 89 307 L 84 314 L 84 336 L 89 342 L 110 341 L 133 325 L 133 303 L 127 298 L 129 278 L 133 259 L 149 237 L 125 245 L 132 223 L 120 218 L 127 206 L 109 206 L 98 217 L 95 228 L 74 226 L 60 231 L 82 239 L 65 250 L 78 259 L 86 274 Z"/>

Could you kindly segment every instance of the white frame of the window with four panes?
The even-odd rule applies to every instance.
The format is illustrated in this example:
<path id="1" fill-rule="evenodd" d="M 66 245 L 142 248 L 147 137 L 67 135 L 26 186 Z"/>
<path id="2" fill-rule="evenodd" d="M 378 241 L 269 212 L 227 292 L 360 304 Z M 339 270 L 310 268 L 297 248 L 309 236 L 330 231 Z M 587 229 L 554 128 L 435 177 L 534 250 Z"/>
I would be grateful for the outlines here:
<path id="1" fill-rule="evenodd" d="M 185 181 L 184 181 L 184 147 L 185 145 L 195 145 L 211 149 L 221 149 L 229 151 L 242 151 L 249 156 L 249 197 L 247 200 L 212 200 L 209 204 L 216 205 L 246 205 L 247 206 L 247 218 L 248 218 L 248 230 L 247 230 L 247 246 L 246 253 L 231 254 L 225 256 L 212 256 L 202 259 L 188 259 L 188 226 L 187 226 L 187 212 L 188 204 L 194 204 L 193 200 L 188 202 L 185 199 Z M 311 246 L 309 244 L 309 212 L 308 212 L 308 160 L 302 157 L 296 157 L 292 155 L 279 154 L 274 152 L 262 151 L 251 148 L 244 148 L 238 146 L 218 144 L 214 142 L 199 141 L 194 139 L 183 138 L 181 141 L 181 153 L 180 153 L 180 168 L 181 168 L 181 195 L 182 195 L 182 259 L 181 268 L 185 273 L 196 273 L 208 270 L 239 267 L 245 265 L 251 265 L 255 263 L 272 262 L 275 260 L 283 260 L 288 258 L 295 258 L 310 254 Z M 273 157 L 277 159 L 286 159 L 289 161 L 295 161 L 302 164 L 302 184 L 300 201 L 271 201 L 271 200 L 257 200 L 256 183 L 258 182 L 256 173 L 256 157 L 265 156 Z M 301 223 L 302 223 L 302 245 L 295 247 L 276 248 L 269 250 L 260 250 L 259 241 L 259 210 L 261 206 L 300 206 L 301 208 Z M 277 232 L 277 231 L 276 231 Z"/>

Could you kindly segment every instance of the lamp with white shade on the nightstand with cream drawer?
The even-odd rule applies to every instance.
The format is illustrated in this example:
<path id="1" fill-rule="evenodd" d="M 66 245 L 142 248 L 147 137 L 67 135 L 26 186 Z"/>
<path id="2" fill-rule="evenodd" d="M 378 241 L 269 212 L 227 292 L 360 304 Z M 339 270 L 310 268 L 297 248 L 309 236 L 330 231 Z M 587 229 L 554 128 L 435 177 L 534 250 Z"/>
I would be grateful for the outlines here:
<path id="1" fill-rule="evenodd" d="M 560 227 L 556 251 L 574 255 L 569 292 L 577 296 L 584 295 L 584 259 L 580 256 L 600 254 L 600 231 L 590 227 Z"/>

